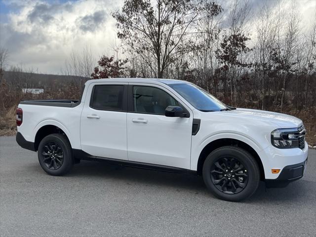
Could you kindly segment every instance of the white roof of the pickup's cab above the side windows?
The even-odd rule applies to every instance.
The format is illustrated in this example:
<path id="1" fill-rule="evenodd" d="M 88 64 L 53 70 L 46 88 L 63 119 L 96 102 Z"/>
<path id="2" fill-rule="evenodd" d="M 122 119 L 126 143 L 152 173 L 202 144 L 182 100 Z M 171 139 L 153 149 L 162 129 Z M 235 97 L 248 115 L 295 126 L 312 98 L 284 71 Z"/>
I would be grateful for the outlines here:
<path id="1" fill-rule="evenodd" d="M 91 79 L 86 83 L 92 82 L 160 82 L 164 84 L 175 84 L 175 83 L 188 83 L 185 80 L 176 80 L 176 79 L 158 79 L 158 78 L 106 78 L 106 79 Z"/>

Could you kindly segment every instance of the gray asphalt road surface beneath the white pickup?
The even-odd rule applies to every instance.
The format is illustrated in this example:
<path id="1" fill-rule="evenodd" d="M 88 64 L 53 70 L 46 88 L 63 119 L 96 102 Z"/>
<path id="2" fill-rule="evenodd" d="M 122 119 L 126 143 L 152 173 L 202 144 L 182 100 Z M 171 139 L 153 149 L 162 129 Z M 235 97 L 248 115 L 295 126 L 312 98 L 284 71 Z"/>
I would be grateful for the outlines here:
<path id="1" fill-rule="evenodd" d="M 261 184 L 242 203 L 219 200 L 201 177 L 99 162 L 49 176 L 37 154 L 0 137 L 0 236 L 315 236 L 316 150 L 285 189 Z"/>

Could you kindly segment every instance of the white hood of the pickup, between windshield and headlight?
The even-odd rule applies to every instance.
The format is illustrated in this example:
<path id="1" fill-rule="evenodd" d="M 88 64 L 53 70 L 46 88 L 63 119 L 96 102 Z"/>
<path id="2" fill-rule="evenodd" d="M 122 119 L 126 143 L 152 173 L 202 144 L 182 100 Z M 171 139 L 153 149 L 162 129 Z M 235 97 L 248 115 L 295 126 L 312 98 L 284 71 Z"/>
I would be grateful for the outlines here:
<path id="1" fill-rule="evenodd" d="M 237 115 L 239 117 L 270 121 L 276 124 L 279 128 L 293 128 L 303 124 L 302 120 L 299 118 L 270 111 L 237 108 L 236 110 L 226 112 L 230 115 Z"/>

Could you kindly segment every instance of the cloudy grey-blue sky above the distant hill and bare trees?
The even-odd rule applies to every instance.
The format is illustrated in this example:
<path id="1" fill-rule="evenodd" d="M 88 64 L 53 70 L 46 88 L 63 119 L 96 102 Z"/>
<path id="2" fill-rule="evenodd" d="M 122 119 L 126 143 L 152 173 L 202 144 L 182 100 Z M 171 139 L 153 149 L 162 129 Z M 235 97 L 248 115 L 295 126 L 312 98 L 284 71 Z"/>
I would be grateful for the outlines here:
<path id="1" fill-rule="evenodd" d="M 224 9 L 228 1 L 222 1 Z M 270 1 L 273 2 L 275 1 Z M 263 1 L 252 0 L 253 8 Z M 311 25 L 316 0 L 298 0 L 302 25 Z M 111 13 L 123 0 L 0 0 L 0 46 L 8 65 L 61 74 L 72 51 L 91 47 L 98 58 L 112 54 L 116 27 Z"/>

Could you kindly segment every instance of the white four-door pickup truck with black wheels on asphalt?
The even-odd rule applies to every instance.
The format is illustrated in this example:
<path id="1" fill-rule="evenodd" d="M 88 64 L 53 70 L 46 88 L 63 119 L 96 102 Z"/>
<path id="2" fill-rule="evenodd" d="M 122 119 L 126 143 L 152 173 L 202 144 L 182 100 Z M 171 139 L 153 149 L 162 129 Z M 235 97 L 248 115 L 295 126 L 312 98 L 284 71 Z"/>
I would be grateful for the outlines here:
<path id="1" fill-rule="evenodd" d="M 80 159 L 195 173 L 217 197 L 250 197 L 259 181 L 286 186 L 308 156 L 302 120 L 223 104 L 172 79 L 96 79 L 81 99 L 22 101 L 17 143 L 63 175 Z"/>

